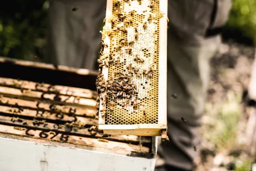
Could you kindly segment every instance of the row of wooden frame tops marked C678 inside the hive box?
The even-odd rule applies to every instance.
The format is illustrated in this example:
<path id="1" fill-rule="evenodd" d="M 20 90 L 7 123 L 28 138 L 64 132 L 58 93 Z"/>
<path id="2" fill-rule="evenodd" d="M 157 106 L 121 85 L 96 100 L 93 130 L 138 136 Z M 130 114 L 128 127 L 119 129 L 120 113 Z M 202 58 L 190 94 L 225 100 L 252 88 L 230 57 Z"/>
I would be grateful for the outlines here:
<path id="1" fill-rule="evenodd" d="M 0 133 L 150 153 L 149 137 L 142 137 L 140 146 L 135 135 L 102 137 L 96 132 L 95 94 L 89 89 L 0 78 Z"/>

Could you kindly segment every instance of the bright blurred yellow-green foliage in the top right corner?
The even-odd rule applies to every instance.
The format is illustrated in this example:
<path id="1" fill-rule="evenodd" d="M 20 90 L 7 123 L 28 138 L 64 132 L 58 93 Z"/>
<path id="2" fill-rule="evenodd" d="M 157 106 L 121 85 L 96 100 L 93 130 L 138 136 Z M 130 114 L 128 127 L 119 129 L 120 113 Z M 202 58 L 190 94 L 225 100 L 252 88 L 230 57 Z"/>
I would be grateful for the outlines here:
<path id="1" fill-rule="evenodd" d="M 241 43 L 256 44 L 256 0 L 232 0 L 223 36 Z"/>

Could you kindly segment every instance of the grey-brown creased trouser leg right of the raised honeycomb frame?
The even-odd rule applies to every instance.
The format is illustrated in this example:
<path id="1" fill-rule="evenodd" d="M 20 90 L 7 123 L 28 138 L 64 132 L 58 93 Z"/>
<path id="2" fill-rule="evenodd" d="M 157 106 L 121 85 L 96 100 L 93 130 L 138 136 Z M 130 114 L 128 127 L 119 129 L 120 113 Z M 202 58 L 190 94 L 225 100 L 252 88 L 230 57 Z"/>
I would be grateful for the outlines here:
<path id="1" fill-rule="evenodd" d="M 219 36 L 205 37 L 214 22 L 211 19 L 215 7 L 210 0 L 169 1 L 167 120 L 170 142 L 158 147 L 158 154 L 167 166 L 190 170 L 199 155 L 209 59 L 220 43 Z M 229 8 L 230 5 L 225 10 Z"/>

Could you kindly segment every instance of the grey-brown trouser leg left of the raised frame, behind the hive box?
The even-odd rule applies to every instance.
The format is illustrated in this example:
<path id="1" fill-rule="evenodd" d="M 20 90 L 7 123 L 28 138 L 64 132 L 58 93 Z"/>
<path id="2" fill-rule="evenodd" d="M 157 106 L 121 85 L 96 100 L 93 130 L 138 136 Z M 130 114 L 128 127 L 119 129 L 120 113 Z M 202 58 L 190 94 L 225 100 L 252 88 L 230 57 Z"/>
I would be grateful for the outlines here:
<path id="1" fill-rule="evenodd" d="M 50 0 L 44 61 L 95 69 L 106 0 Z"/>

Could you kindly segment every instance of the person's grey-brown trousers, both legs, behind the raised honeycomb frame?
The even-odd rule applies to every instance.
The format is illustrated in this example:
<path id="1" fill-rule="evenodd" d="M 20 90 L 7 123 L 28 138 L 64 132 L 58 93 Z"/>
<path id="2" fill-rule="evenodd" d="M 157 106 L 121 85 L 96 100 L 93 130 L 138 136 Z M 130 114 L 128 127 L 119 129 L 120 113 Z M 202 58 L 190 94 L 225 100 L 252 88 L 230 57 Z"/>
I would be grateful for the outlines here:
<path id="1" fill-rule="evenodd" d="M 158 148 L 167 165 L 191 169 L 199 155 L 209 59 L 220 43 L 220 36 L 207 37 L 206 33 L 224 25 L 230 5 L 230 0 L 168 1 L 167 119 L 171 141 Z M 106 0 L 50 0 L 45 62 L 95 69 L 105 8 Z M 172 98 L 173 93 L 177 98 Z"/>

